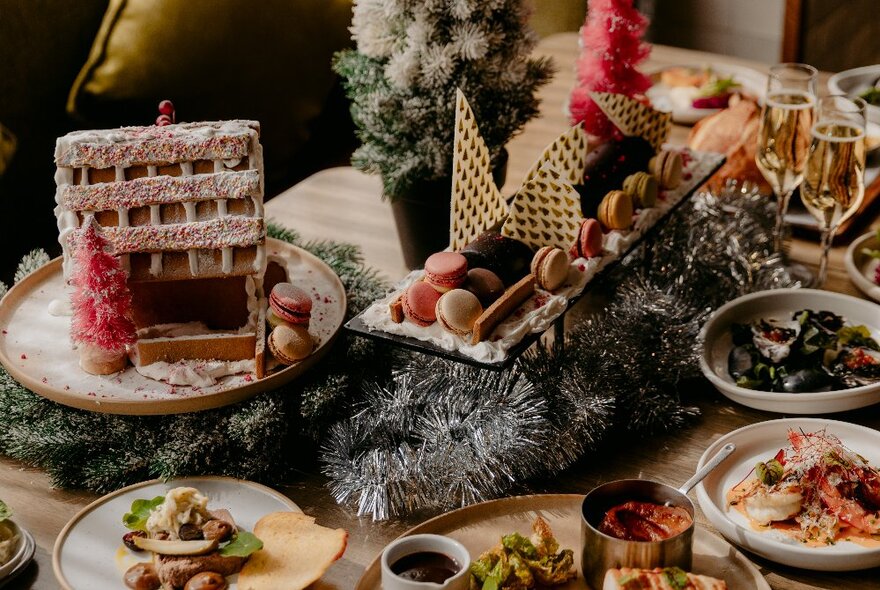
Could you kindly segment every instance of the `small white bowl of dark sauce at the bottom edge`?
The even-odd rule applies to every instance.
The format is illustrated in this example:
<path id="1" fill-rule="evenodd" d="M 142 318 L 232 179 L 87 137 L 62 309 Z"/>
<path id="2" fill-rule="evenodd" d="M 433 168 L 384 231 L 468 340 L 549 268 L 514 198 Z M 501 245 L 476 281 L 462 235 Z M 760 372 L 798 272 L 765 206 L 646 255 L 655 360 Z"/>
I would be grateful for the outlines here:
<path id="1" fill-rule="evenodd" d="M 390 543 L 382 553 L 383 590 L 464 590 L 471 558 L 468 550 L 443 535 L 412 535 Z"/>

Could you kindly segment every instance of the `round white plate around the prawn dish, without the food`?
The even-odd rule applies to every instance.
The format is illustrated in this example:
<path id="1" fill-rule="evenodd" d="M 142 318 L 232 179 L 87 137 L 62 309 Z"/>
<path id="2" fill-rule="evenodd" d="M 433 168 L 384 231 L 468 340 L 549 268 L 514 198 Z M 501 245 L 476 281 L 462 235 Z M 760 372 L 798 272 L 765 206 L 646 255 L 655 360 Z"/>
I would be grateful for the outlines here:
<path id="1" fill-rule="evenodd" d="M 700 508 L 730 542 L 777 563 L 819 571 L 851 571 L 880 566 L 880 547 L 867 548 L 849 541 L 807 547 L 776 531 L 754 530 L 745 516 L 735 509 L 728 509 L 727 492 L 747 477 L 758 461 L 766 461 L 788 445 L 786 435 L 789 429 L 815 432 L 823 428 L 872 465 L 880 465 L 880 432 L 871 428 L 821 418 L 760 422 L 721 437 L 700 457 L 698 468 L 725 444 L 736 444 L 733 455 L 697 485 Z"/>

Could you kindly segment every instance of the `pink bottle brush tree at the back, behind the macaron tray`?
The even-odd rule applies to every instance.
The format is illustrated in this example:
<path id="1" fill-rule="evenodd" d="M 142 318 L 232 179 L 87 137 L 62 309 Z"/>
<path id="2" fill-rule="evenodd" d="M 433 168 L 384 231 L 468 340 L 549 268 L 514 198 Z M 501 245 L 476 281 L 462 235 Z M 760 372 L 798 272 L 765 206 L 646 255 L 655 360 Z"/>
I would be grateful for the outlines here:
<path id="1" fill-rule="evenodd" d="M 590 92 L 614 92 L 633 97 L 651 87 L 636 66 L 651 46 L 642 41 L 648 19 L 633 0 L 588 0 L 581 27 L 583 49 L 577 62 L 578 84 L 571 93 L 572 124 L 582 123 L 591 135 L 610 138 L 619 132 L 590 98 Z"/>

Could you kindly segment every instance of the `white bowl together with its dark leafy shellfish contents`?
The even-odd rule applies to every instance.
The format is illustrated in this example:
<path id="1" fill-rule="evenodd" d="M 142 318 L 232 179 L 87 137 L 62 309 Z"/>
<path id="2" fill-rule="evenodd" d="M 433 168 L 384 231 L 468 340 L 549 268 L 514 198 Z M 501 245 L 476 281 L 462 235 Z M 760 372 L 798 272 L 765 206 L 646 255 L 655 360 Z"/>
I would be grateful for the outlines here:
<path id="1" fill-rule="evenodd" d="M 718 308 L 700 367 L 726 397 L 824 414 L 880 402 L 880 306 L 814 289 L 760 291 Z"/>

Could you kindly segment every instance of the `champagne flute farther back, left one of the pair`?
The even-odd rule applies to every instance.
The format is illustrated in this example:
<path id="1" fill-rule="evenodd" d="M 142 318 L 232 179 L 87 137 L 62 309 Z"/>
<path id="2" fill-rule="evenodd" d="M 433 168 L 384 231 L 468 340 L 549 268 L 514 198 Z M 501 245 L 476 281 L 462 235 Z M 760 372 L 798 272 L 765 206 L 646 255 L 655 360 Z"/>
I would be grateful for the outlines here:
<path id="1" fill-rule="evenodd" d="M 770 68 L 755 161 L 776 195 L 776 251 L 784 243 L 791 194 L 804 177 L 815 102 L 816 68 L 795 63 Z"/>

